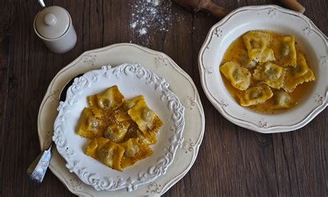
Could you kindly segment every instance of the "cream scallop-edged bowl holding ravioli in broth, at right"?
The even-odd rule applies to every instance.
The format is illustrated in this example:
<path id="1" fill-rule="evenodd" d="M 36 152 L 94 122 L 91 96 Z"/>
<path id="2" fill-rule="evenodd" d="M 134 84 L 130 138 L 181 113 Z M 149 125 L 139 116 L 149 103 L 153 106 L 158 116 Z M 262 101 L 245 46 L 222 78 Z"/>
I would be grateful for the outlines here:
<path id="1" fill-rule="evenodd" d="M 219 73 L 228 46 L 247 31 L 268 30 L 294 35 L 307 55 L 316 81 L 296 108 L 280 114 L 262 114 L 240 106 L 230 96 Z M 212 26 L 199 52 L 201 85 L 212 105 L 229 121 L 257 132 L 296 130 L 327 107 L 327 37 L 300 14 L 279 6 L 248 6 L 230 12 Z"/>

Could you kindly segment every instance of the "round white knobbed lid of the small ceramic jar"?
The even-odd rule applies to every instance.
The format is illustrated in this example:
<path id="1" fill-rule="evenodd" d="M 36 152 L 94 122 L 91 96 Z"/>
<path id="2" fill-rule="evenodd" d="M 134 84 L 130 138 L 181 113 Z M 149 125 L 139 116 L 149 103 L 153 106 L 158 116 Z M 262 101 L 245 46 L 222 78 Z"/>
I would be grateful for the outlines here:
<path id="1" fill-rule="evenodd" d="M 44 8 L 35 18 L 37 33 L 46 39 L 55 39 L 64 35 L 70 23 L 69 12 L 59 6 Z"/>

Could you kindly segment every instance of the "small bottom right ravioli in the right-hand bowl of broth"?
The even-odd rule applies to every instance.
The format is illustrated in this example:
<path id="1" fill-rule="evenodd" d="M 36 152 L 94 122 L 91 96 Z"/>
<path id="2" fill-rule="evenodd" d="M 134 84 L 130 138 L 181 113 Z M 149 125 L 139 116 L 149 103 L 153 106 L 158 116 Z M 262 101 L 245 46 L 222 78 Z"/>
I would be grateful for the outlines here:
<path id="1" fill-rule="evenodd" d="M 273 100 L 273 109 L 288 109 L 298 104 L 298 102 L 293 101 L 291 96 L 287 92 L 284 92 L 284 90 L 275 92 L 273 94 Z"/>

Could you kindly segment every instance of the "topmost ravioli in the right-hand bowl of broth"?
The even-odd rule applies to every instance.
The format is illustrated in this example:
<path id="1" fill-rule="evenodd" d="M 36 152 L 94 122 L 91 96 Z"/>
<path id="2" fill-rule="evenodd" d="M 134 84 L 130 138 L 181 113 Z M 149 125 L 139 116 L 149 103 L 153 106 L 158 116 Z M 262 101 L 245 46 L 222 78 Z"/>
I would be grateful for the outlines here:
<path id="1" fill-rule="evenodd" d="M 255 60 L 255 62 L 275 60 L 273 50 L 268 48 L 268 45 L 272 41 L 272 35 L 270 33 L 249 31 L 243 35 L 243 39 L 250 60 Z"/>

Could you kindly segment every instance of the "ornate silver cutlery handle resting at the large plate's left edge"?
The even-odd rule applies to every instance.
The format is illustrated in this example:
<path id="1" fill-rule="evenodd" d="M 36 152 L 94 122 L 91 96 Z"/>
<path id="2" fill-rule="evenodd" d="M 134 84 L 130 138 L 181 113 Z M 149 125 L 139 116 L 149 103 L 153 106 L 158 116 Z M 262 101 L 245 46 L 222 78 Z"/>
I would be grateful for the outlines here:
<path id="1" fill-rule="evenodd" d="M 30 175 L 30 180 L 40 183 L 44 179 L 44 175 L 46 174 L 46 170 L 48 169 L 51 160 L 52 146 L 53 144 L 51 144 L 48 150 L 44 151 L 44 153 L 42 154 L 39 162 L 37 163 L 37 166 L 35 166 L 33 173 L 31 173 Z"/>

